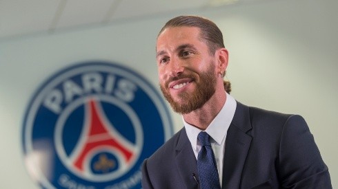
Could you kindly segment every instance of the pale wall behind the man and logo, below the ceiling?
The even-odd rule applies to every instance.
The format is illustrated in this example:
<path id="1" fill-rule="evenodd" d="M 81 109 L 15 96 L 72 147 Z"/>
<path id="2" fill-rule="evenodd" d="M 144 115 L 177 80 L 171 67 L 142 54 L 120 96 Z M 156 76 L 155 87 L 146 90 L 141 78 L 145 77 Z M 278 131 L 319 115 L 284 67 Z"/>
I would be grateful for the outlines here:
<path id="1" fill-rule="evenodd" d="M 259 1 L 0 41 L 0 188 L 38 188 L 24 166 L 21 127 L 41 82 L 73 63 L 110 60 L 157 86 L 155 38 L 178 14 L 206 16 L 221 27 L 232 96 L 306 118 L 338 187 L 337 8 L 335 0 Z M 173 118 L 180 129 L 181 117 Z"/>

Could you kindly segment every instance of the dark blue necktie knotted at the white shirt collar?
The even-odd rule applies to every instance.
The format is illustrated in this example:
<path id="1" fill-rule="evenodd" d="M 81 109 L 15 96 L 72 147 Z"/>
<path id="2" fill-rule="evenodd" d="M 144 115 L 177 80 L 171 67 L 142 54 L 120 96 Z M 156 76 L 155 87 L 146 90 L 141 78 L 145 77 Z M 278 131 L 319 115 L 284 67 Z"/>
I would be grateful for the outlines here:
<path id="1" fill-rule="evenodd" d="M 220 189 L 219 176 L 215 155 L 209 141 L 209 135 L 201 131 L 197 136 L 201 143 L 201 151 L 197 157 L 197 169 L 199 172 L 199 185 L 201 189 Z"/>

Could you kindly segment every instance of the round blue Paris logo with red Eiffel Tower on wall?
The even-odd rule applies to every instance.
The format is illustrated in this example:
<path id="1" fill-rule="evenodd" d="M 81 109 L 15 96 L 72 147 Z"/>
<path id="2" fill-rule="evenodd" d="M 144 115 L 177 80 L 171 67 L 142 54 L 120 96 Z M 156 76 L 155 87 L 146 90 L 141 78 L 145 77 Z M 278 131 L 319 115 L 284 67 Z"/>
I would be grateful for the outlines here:
<path id="1" fill-rule="evenodd" d="M 42 188 L 141 188 L 141 164 L 172 135 L 159 93 L 134 71 L 74 65 L 34 94 L 23 153 Z"/>

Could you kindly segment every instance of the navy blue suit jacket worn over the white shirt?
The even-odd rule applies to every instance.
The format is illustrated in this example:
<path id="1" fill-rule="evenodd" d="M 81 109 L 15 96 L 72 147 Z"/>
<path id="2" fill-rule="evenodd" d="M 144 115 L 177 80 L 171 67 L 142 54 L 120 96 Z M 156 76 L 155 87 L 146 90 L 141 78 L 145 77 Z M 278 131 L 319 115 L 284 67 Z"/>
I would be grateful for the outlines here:
<path id="1" fill-rule="evenodd" d="M 143 189 L 197 188 L 197 160 L 183 128 L 142 165 Z M 308 126 L 299 115 L 237 109 L 226 136 L 222 188 L 332 188 Z"/>

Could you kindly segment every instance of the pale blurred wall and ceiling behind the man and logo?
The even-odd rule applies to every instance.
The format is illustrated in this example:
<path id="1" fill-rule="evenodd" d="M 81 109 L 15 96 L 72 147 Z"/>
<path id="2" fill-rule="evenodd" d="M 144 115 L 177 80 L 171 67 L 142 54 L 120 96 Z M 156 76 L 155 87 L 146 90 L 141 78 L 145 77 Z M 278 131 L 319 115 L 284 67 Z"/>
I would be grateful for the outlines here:
<path id="1" fill-rule="evenodd" d="M 157 33 L 181 14 L 221 28 L 236 100 L 306 119 L 338 187 L 337 10 L 336 0 L 0 0 L 0 188 L 39 188 L 21 132 L 42 82 L 75 63 L 108 60 L 158 89 Z M 170 113 L 178 131 L 181 116 Z"/>

